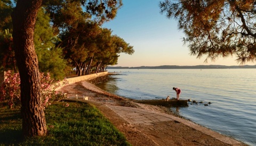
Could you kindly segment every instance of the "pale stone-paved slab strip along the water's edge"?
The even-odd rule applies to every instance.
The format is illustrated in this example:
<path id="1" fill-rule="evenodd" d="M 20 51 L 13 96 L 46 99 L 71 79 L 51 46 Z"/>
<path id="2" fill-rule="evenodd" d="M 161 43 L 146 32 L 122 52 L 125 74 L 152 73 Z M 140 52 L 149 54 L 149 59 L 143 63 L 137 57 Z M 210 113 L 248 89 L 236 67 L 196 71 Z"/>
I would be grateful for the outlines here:
<path id="1" fill-rule="evenodd" d="M 238 142 L 234 139 L 228 138 L 225 135 L 221 135 L 217 132 L 211 131 L 205 127 L 197 125 L 197 124 L 190 122 L 186 119 L 182 119 L 182 118 L 172 116 L 169 114 L 163 114 L 163 113 L 159 113 L 156 111 L 150 111 L 150 110 L 132 108 L 132 107 L 113 106 L 113 105 L 107 105 L 107 106 L 135 127 L 138 125 L 150 126 L 150 125 L 154 125 L 156 122 L 175 121 L 175 122 L 179 122 L 184 125 L 187 125 L 191 128 L 194 128 L 197 131 L 200 131 L 202 133 L 210 135 L 213 138 L 215 138 L 219 141 L 222 141 L 226 144 L 230 144 L 230 145 L 242 144 L 241 142 Z"/>

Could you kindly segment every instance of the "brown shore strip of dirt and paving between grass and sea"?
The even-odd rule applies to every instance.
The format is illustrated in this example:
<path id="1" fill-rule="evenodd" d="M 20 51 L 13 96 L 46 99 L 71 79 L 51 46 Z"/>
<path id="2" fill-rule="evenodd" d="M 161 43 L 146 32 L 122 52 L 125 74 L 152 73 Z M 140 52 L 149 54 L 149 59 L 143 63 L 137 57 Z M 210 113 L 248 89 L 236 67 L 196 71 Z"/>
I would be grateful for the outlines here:
<path id="1" fill-rule="evenodd" d="M 191 124 L 186 119 L 173 116 L 165 107 L 138 104 L 103 91 L 90 82 L 97 82 L 97 79 L 67 84 L 58 91 L 67 93 L 69 100 L 80 100 L 97 107 L 119 131 L 124 133 L 132 145 L 246 145 L 205 127 Z M 80 98 L 76 99 L 76 95 Z M 83 100 L 83 96 L 88 97 L 88 100 Z M 122 109 L 129 109 L 134 113 L 143 110 L 145 113 L 171 117 L 171 120 L 151 121 L 150 124 L 133 123 L 127 121 L 124 114 L 118 114 L 117 111 Z M 188 126 L 187 123 L 194 126 Z"/>

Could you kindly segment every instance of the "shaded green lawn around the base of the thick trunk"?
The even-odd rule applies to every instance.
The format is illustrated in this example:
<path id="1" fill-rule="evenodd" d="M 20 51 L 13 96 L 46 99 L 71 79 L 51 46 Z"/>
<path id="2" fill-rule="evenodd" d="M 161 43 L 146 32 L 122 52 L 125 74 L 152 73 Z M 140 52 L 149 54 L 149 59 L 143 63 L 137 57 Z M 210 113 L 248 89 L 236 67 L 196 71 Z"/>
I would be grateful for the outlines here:
<path id="1" fill-rule="evenodd" d="M 82 102 L 45 110 L 48 134 L 22 139 L 19 109 L 0 108 L 0 145 L 130 145 L 100 111 Z"/>

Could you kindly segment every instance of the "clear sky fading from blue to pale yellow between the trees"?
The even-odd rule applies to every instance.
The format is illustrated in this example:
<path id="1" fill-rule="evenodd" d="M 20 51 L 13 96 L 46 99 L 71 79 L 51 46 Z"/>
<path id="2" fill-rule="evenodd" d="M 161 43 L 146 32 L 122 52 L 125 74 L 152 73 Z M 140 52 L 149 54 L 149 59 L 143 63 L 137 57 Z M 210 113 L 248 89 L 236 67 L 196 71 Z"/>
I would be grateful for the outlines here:
<path id="1" fill-rule="evenodd" d="M 185 35 L 178 30 L 178 21 L 160 13 L 160 1 L 163 0 L 123 0 L 116 18 L 103 24 L 135 50 L 132 55 L 120 54 L 115 66 L 238 65 L 235 57 L 219 57 L 215 62 L 204 63 L 206 57 L 190 56 L 187 45 L 183 45 Z"/>

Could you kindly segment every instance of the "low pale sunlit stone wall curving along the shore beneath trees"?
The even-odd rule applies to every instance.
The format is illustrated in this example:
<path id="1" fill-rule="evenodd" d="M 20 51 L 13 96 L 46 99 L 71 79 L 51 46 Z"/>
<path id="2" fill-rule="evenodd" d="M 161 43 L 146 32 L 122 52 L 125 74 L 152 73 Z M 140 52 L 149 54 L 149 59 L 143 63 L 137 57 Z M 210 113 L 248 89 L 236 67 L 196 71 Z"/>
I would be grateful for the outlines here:
<path id="1" fill-rule="evenodd" d="M 108 74 L 108 72 L 93 73 L 93 74 L 88 74 L 88 75 L 82 75 L 82 76 L 67 78 L 66 80 L 68 81 L 68 84 L 73 84 L 73 83 L 80 82 L 80 81 L 87 81 L 87 80 L 95 79 L 99 76 L 103 76 L 103 75 L 106 75 L 106 74 Z M 63 81 L 60 81 L 59 83 L 63 84 Z M 65 86 L 65 85 L 62 85 L 61 87 Z M 59 90 L 61 87 L 59 87 L 55 90 Z"/>

